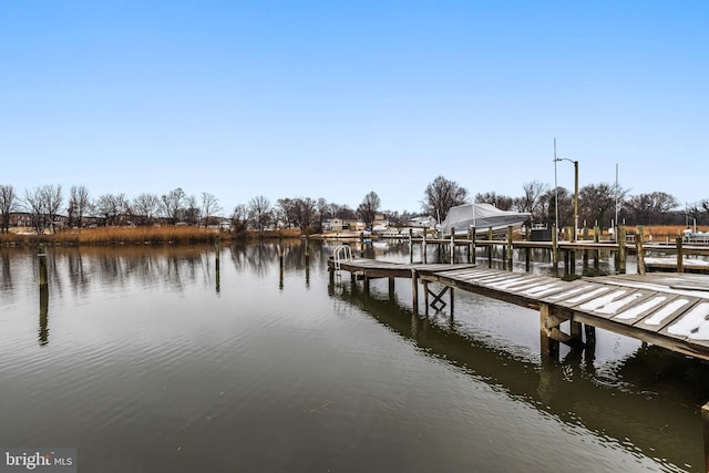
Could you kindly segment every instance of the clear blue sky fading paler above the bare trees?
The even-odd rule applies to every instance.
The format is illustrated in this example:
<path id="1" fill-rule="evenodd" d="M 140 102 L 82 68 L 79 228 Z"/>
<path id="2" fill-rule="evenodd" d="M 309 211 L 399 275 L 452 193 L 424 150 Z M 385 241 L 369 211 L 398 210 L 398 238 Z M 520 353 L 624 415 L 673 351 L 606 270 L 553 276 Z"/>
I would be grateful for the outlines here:
<path id="1" fill-rule="evenodd" d="M 0 2 L 0 184 L 709 198 L 707 1 Z M 562 162 L 558 184 L 573 189 Z"/>

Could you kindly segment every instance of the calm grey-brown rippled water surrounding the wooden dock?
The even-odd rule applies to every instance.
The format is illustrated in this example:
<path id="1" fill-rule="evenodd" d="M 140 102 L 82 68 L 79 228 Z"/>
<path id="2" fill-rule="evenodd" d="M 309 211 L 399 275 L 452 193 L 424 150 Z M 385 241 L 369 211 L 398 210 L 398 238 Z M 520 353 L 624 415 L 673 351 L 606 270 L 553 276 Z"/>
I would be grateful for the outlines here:
<path id="1" fill-rule="evenodd" d="M 417 317 L 410 280 L 330 285 L 330 249 L 217 271 L 212 247 L 50 248 L 47 295 L 37 250 L 1 249 L 0 446 L 82 472 L 702 471 L 706 363 L 603 331 L 542 360 L 535 311 L 456 291 Z"/>

